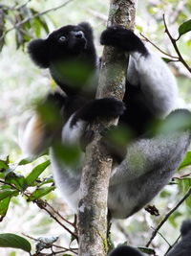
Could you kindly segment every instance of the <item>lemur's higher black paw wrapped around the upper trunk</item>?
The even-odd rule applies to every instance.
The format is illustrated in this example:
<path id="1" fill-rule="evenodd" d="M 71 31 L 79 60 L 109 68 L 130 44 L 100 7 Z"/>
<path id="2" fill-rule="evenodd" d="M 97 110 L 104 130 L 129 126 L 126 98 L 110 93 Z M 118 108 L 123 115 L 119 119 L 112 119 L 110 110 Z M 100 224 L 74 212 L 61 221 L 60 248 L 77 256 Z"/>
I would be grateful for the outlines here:
<path id="1" fill-rule="evenodd" d="M 126 52 L 147 54 L 147 50 L 138 36 L 120 26 L 109 27 L 103 31 L 100 36 L 100 43 L 117 47 Z"/>

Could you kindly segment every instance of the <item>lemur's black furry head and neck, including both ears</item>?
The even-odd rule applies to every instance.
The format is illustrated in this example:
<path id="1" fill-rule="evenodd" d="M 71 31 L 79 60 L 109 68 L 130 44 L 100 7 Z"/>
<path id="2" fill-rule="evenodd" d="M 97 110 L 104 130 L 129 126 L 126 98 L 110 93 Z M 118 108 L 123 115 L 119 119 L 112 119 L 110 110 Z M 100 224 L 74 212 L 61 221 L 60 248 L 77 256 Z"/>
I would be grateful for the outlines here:
<path id="1" fill-rule="evenodd" d="M 88 85 L 85 83 L 96 70 L 96 49 L 93 39 L 91 26 L 83 22 L 77 26 L 62 27 L 46 39 L 32 40 L 28 50 L 34 63 L 42 68 L 50 68 L 54 81 L 68 96 L 74 96 L 86 89 L 84 86 Z M 74 73 L 70 65 L 73 66 Z M 85 74 L 80 75 L 81 81 L 74 81 L 79 68 L 83 68 Z M 87 97 L 88 93 L 84 94 Z"/>

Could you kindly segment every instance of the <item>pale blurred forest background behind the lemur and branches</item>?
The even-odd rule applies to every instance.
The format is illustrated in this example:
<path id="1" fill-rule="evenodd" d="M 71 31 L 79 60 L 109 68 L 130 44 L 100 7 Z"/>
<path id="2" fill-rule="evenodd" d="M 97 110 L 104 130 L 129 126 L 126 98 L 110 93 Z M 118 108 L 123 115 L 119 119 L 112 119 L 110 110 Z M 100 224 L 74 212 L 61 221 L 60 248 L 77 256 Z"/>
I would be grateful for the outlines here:
<path id="1" fill-rule="evenodd" d="M 55 86 L 48 70 L 36 67 L 27 54 L 27 44 L 32 38 L 46 37 L 61 26 L 77 24 L 81 21 L 91 23 L 96 41 L 96 50 L 102 54 L 99 44 L 99 35 L 105 29 L 109 11 L 108 0 L 29 0 L 14 1 L 1 0 L 0 2 L 0 159 L 6 160 L 9 155 L 11 165 L 22 159 L 18 147 L 18 127 L 22 123 L 25 113 L 28 113 L 37 99 L 42 98 Z M 45 12 L 45 13 L 44 13 Z M 136 18 L 136 33 L 149 38 L 165 53 L 177 56 L 169 37 L 164 33 L 162 14 L 165 13 L 168 29 L 175 38 L 179 36 L 180 24 L 190 18 L 190 0 L 148 0 L 138 1 Z M 3 16 L 3 17 L 2 17 Z M 25 21 L 25 22 L 23 22 Z M 23 22 L 23 24 L 22 24 Z M 21 23 L 19 26 L 18 24 Z M 191 65 L 191 36 L 190 33 L 180 36 L 178 41 L 181 56 Z M 152 45 L 151 45 L 152 47 Z M 152 47 L 161 58 L 168 58 L 156 47 Z M 180 100 L 178 105 L 191 108 L 191 75 L 177 61 L 169 63 L 175 74 L 179 89 Z M 33 166 L 48 159 L 41 157 L 29 165 L 16 167 L 17 174 L 27 175 Z M 126 221 L 115 221 L 112 227 L 112 239 L 115 244 L 126 242 L 134 246 L 145 245 L 152 234 L 152 227 L 156 227 L 162 217 L 182 198 L 191 185 L 189 167 L 180 170 L 170 185 L 159 194 L 151 203 L 159 210 L 159 216 L 152 216 L 144 209 Z M 185 178 L 181 178 L 185 175 Z M 188 175 L 187 175 L 188 174 Z M 46 170 L 43 176 L 51 175 Z M 45 198 L 58 209 L 68 220 L 73 220 L 73 213 L 54 190 Z M 159 230 L 152 246 L 158 255 L 162 255 L 169 244 L 173 244 L 180 232 L 180 222 L 190 217 L 191 200 L 185 203 L 165 222 Z M 1 204 L 0 204 L 1 211 Z M 41 236 L 59 236 L 58 244 L 68 245 L 70 234 L 53 221 L 48 214 L 39 209 L 32 202 L 22 197 L 11 198 L 7 215 L 0 222 L 0 233 L 14 233 L 29 235 L 33 238 Z M 165 239 L 164 239 L 165 238 Z M 165 241 L 167 240 L 167 242 Z M 169 243 L 169 244 L 168 244 Z M 34 241 L 32 241 L 34 247 Z M 162 253 L 161 253 L 162 251 Z M 72 254 L 72 253 L 71 253 Z M 27 252 L 0 248 L 0 255 L 29 255 Z M 49 255 L 49 254 L 47 254 Z M 60 254 L 61 255 L 61 254 Z"/>

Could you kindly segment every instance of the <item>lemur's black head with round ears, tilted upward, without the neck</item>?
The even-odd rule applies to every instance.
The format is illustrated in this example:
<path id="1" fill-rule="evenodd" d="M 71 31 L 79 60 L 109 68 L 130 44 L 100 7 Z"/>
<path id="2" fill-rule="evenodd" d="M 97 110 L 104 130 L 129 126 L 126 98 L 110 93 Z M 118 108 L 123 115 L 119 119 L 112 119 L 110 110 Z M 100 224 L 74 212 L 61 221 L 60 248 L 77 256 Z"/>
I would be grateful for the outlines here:
<path id="1" fill-rule="evenodd" d="M 93 31 L 86 23 L 68 25 L 53 31 L 46 39 L 34 39 L 28 50 L 32 60 L 40 67 L 47 68 L 62 58 L 78 58 L 94 50 Z"/>

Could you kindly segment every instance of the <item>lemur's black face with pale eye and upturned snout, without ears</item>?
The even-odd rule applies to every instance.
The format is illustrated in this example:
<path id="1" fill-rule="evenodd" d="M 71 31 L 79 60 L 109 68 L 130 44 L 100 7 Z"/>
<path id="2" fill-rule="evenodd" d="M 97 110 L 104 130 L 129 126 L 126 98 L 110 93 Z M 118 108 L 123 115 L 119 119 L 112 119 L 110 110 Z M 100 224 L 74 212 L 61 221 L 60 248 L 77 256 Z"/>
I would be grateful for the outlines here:
<path id="1" fill-rule="evenodd" d="M 65 26 L 48 36 L 50 58 L 70 58 L 82 54 L 87 48 L 86 32 L 81 26 Z"/>

